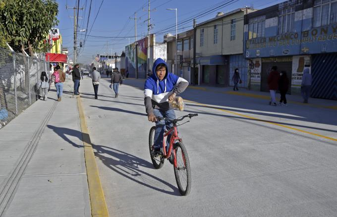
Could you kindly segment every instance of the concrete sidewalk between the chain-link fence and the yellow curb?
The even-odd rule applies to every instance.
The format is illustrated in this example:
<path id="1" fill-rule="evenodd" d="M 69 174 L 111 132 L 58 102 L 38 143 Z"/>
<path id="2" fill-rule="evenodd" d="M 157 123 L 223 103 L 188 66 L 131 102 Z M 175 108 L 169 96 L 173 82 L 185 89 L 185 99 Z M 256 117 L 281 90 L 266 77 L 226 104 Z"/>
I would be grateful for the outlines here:
<path id="1" fill-rule="evenodd" d="M 0 130 L 0 216 L 91 216 L 73 82 Z"/>

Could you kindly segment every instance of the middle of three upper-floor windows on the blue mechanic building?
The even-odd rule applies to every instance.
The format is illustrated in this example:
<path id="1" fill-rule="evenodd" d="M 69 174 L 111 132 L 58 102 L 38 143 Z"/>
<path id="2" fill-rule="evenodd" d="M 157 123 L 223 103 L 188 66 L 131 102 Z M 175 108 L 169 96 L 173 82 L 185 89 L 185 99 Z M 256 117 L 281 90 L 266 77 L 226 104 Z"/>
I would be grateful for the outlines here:
<path id="1" fill-rule="evenodd" d="M 295 6 L 279 10 L 279 34 L 295 31 Z"/>

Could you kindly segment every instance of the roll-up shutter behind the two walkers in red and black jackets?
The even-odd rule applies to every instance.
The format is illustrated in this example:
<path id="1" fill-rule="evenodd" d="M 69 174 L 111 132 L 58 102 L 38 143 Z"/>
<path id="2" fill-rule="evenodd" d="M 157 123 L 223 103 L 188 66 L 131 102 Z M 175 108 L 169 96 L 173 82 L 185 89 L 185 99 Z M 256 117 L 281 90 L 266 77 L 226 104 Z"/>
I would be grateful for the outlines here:
<path id="1" fill-rule="evenodd" d="M 271 59 L 271 58 L 270 58 Z M 278 61 L 279 60 L 279 61 Z M 292 61 L 281 61 L 289 60 L 289 57 L 286 58 L 277 58 L 275 61 L 264 60 L 262 59 L 262 69 L 261 69 L 261 91 L 269 92 L 268 87 L 268 75 L 272 71 L 273 66 L 278 67 L 278 72 L 285 71 L 289 80 L 289 88 L 287 94 L 290 94 L 291 90 L 291 71 L 292 71 Z"/>

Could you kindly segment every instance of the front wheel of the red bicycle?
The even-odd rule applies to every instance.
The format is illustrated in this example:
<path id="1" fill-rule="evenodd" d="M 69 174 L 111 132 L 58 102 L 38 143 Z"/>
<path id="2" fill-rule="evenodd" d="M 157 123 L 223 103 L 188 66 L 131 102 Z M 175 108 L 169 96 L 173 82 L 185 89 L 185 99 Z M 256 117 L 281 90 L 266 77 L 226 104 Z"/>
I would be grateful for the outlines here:
<path id="1" fill-rule="evenodd" d="M 187 151 L 184 144 L 177 142 L 174 144 L 176 167 L 174 168 L 174 176 L 181 195 L 186 196 L 191 190 L 191 168 Z"/>

